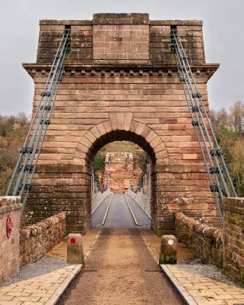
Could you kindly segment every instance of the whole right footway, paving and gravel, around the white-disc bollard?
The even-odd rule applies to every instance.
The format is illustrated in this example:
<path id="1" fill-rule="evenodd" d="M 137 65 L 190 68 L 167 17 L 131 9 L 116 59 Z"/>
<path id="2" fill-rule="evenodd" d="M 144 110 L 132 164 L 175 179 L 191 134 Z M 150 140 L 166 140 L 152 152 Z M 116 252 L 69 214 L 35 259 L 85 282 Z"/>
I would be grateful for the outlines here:
<path id="1" fill-rule="evenodd" d="M 160 237 L 152 231 L 142 230 L 142 237 L 158 262 Z M 190 305 L 242 305 L 244 289 L 229 280 L 221 270 L 194 259 L 183 244 L 178 244 L 178 264 L 161 265 L 171 283 Z"/>

